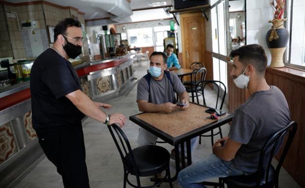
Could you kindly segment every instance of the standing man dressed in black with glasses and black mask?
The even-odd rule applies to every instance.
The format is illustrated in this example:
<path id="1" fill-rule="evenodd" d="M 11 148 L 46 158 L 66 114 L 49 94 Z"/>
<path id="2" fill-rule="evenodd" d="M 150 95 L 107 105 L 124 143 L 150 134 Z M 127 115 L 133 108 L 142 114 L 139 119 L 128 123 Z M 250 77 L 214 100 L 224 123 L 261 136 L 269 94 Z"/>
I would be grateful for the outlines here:
<path id="1" fill-rule="evenodd" d="M 46 157 L 57 167 L 65 188 L 89 188 L 81 120 L 85 115 L 106 125 L 125 124 L 122 114 L 105 114 L 82 92 L 68 58 L 82 53 L 81 23 L 71 18 L 54 28 L 54 45 L 31 69 L 32 123 Z"/>

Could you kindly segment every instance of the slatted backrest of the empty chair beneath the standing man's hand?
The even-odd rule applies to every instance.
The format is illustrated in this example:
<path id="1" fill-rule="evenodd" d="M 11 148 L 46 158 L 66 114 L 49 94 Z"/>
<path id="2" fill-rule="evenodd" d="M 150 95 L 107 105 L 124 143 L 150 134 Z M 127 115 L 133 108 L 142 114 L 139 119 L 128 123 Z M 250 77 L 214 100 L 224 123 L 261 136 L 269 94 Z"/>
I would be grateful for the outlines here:
<path id="1" fill-rule="evenodd" d="M 126 169 L 126 167 L 127 167 L 126 166 L 127 164 L 125 163 L 124 159 L 125 159 L 125 156 L 127 154 L 129 154 L 130 155 L 129 161 L 131 162 L 132 167 L 136 170 L 137 173 L 139 173 L 139 170 L 138 170 L 135 160 L 134 160 L 131 145 L 128 141 L 127 136 L 123 132 L 123 130 L 116 124 L 108 125 L 108 129 L 113 138 L 115 146 L 117 147 L 117 149 L 120 153 L 124 169 Z"/>

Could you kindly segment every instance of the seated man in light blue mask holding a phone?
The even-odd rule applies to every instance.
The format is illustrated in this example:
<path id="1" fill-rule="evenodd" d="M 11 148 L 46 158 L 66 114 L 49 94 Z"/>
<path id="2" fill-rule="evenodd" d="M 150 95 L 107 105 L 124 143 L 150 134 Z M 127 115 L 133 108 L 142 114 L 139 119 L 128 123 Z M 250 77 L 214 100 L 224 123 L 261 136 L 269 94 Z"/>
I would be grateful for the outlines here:
<path id="1" fill-rule="evenodd" d="M 176 74 L 166 71 L 166 55 L 153 52 L 150 57 L 149 73 L 140 79 L 137 85 L 137 103 L 142 112 L 171 113 L 175 109 L 186 110 L 189 106 L 189 95 Z M 175 93 L 180 98 L 176 104 Z M 155 145 L 157 137 L 140 128 L 138 145 Z M 196 139 L 193 145 L 196 144 Z"/>

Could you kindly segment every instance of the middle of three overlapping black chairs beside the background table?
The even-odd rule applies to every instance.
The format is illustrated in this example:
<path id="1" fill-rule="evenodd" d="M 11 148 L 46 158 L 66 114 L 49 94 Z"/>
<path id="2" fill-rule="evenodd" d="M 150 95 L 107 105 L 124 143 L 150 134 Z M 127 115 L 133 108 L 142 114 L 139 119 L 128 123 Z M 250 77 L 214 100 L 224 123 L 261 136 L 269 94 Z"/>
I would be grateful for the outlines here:
<path id="1" fill-rule="evenodd" d="M 194 103 L 194 98 L 198 97 L 200 95 L 200 92 L 196 93 L 196 90 L 200 90 L 200 85 L 198 85 L 199 82 L 203 81 L 205 79 L 207 70 L 206 68 L 202 67 L 200 69 L 195 69 L 192 71 L 191 74 L 191 83 L 190 85 L 184 85 L 186 92 L 192 93 L 192 102 Z"/>

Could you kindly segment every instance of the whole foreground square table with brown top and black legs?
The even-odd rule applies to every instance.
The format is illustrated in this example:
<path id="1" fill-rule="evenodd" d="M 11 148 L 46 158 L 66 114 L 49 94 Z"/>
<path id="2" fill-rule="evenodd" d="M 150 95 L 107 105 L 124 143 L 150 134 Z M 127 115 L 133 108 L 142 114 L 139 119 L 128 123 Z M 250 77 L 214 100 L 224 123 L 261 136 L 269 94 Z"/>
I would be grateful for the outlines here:
<path id="1" fill-rule="evenodd" d="M 205 110 L 207 107 L 190 103 L 187 110 L 175 110 L 167 113 L 140 113 L 130 116 L 130 120 L 141 126 L 155 136 L 174 146 L 175 156 L 179 156 L 179 145 L 181 147 L 182 168 L 185 167 L 184 143 L 187 146 L 187 165 L 192 164 L 191 139 L 203 133 L 211 131 L 232 121 L 233 115 L 225 114 L 218 120 L 212 120 L 209 113 Z M 179 157 L 175 159 L 176 174 L 172 181 L 177 178 L 180 171 Z"/>

